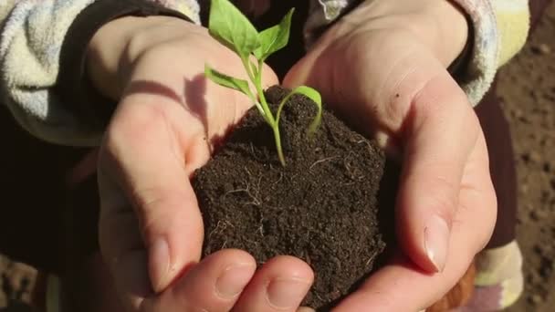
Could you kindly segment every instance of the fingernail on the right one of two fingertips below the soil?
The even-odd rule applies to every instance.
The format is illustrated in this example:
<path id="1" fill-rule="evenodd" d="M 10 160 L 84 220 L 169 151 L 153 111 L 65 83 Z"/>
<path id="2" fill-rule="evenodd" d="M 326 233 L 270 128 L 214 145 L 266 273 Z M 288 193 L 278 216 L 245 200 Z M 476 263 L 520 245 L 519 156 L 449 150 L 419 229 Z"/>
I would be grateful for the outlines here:
<path id="1" fill-rule="evenodd" d="M 300 278 L 276 278 L 267 286 L 267 301 L 276 308 L 296 307 L 306 295 L 310 284 L 310 281 Z"/>

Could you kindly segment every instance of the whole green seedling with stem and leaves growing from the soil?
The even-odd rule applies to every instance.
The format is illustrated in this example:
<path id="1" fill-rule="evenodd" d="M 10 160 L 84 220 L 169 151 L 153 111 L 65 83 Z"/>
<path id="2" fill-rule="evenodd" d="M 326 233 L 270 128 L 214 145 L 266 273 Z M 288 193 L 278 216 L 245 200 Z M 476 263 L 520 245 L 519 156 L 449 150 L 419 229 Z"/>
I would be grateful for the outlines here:
<path id="1" fill-rule="evenodd" d="M 208 21 L 209 33 L 218 42 L 234 51 L 241 58 L 246 69 L 246 74 L 257 90 L 257 97 L 251 92 L 246 80 L 225 75 L 208 65 L 205 65 L 204 68 L 204 74 L 207 78 L 210 78 L 220 86 L 233 88 L 246 94 L 255 103 L 258 111 L 274 132 L 278 158 L 284 166 L 285 158 L 281 149 L 281 139 L 279 136 L 279 116 L 285 103 L 294 94 L 302 94 L 316 103 L 318 114 L 309 125 L 309 135 L 318 129 L 322 114 L 321 97 L 319 92 L 314 88 L 306 86 L 294 88 L 288 96 L 281 100 L 275 116 L 272 114 L 264 96 L 262 88 L 262 68 L 264 62 L 267 57 L 287 46 L 293 11 L 294 9 L 291 9 L 278 25 L 258 32 L 248 18 L 228 0 L 212 0 Z M 256 62 L 253 61 L 253 57 L 256 59 Z"/>

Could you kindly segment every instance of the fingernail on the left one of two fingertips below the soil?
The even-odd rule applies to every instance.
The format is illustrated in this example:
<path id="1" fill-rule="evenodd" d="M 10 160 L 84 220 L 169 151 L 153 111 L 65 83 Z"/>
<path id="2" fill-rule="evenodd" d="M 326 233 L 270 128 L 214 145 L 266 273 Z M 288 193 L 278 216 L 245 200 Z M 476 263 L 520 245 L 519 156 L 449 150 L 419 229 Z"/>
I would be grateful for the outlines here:
<path id="1" fill-rule="evenodd" d="M 243 291 L 257 269 L 256 265 L 230 265 L 215 282 L 215 291 L 224 299 L 233 298 Z"/>

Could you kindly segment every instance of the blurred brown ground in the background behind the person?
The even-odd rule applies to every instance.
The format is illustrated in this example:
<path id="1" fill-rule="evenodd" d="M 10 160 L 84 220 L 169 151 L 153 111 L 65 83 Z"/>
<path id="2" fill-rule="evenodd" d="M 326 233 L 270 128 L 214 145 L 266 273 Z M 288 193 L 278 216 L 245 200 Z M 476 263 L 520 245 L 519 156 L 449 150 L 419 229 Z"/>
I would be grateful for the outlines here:
<path id="1" fill-rule="evenodd" d="M 526 290 L 510 312 L 555 310 L 555 3 L 528 45 L 502 68 L 504 99 L 518 162 L 518 242 Z M 0 312 L 25 303 L 36 271 L 0 255 Z"/>

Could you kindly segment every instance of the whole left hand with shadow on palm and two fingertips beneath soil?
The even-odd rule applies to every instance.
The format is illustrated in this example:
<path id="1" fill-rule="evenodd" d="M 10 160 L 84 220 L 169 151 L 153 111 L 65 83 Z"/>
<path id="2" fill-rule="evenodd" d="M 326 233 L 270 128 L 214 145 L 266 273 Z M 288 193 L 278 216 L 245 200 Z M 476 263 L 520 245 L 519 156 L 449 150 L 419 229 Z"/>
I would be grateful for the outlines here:
<path id="1" fill-rule="evenodd" d="M 91 41 L 91 79 L 119 100 L 99 152 L 101 253 L 128 311 L 295 311 L 313 278 L 302 261 L 279 256 L 255 274 L 251 255 L 223 250 L 199 263 L 189 178 L 250 107 L 208 82 L 205 63 L 245 76 L 204 28 L 171 17 L 121 18 Z M 278 83 L 264 71 L 265 86 Z"/>

